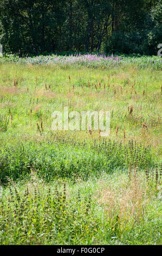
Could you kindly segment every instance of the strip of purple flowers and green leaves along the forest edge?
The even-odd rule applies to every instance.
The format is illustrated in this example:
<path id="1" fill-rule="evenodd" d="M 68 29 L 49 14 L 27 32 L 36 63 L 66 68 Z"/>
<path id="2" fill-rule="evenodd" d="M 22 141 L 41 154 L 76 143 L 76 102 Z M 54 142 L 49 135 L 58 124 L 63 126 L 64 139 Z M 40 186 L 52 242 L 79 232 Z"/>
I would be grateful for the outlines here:
<path id="1" fill-rule="evenodd" d="M 50 56 L 36 56 L 20 58 L 17 56 L 6 56 L 0 58 L 1 62 L 16 62 L 22 64 L 33 65 L 59 65 L 59 66 L 88 66 L 93 68 L 106 68 L 108 66 L 121 65 L 137 65 L 140 68 L 150 68 L 162 70 L 161 58 L 158 56 L 141 56 L 141 57 L 125 57 L 125 56 L 106 56 L 105 54 L 71 54 L 69 56 L 59 56 L 51 54 Z"/>

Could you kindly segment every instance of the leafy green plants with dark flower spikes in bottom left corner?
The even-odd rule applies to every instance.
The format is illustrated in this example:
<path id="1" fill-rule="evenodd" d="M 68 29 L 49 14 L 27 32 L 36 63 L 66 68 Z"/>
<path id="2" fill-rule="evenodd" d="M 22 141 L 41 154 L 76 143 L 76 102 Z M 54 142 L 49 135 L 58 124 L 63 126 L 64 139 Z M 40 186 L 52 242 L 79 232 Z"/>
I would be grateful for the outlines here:
<path id="1" fill-rule="evenodd" d="M 90 241 L 93 229 L 99 225 L 96 226 L 92 199 L 89 196 L 72 202 L 66 197 L 65 185 L 61 192 L 57 188 L 51 192 L 49 188 L 43 194 L 36 187 L 34 193 L 29 193 L 27 187 L 21 194 L 16 187 L 14 191 L 10 188 L 7 203 L 2 199 L 0 206 L 1 245 Z"/>

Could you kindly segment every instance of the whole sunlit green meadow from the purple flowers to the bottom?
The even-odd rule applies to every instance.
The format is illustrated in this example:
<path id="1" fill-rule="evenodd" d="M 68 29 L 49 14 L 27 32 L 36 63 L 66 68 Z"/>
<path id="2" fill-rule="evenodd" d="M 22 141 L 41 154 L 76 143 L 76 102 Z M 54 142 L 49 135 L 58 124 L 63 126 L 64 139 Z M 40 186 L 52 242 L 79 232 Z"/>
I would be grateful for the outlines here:
<path id="1" fill-rule="evenodd" d="M 2 245 L 161 244 L 159 65 L 0 61 Z M 51 130 L 64 106 L 110 135 Z"/>

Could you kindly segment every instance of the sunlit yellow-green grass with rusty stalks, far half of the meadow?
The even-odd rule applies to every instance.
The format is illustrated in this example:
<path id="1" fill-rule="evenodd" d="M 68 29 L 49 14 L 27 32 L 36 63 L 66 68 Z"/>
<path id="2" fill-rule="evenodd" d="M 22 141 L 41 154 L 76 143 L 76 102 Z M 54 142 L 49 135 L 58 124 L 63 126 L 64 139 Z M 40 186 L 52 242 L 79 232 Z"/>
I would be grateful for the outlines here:
<path id="1" fill-rule="evenodd" d="M 111 112 L 109 138 L 123 140 L 125 129 L 126 141 L 133 138 L 139 143 L 152 144 L 154 155 L 159 157 L 161 76 L 161 71 L 141 70 L 136 66 L 62 70 L 57 66 L 1 64 L 1 114 L 9 117 L 12 114 L 13 120 L 8 131 L 0 136 L 12 139 L 14 135 L 22 140 L 37 137 L 36 123 L 41 121 L 44 134 L 49 134 L 51 114 L 62 111 L 64 106 L 79 112 L 102 109 Z M 99 138 L 97 134 L 93 132 L 92 136 Z M 85 137 L 84 132 L 77 133 L 77 138 L 82 136 Z"/>

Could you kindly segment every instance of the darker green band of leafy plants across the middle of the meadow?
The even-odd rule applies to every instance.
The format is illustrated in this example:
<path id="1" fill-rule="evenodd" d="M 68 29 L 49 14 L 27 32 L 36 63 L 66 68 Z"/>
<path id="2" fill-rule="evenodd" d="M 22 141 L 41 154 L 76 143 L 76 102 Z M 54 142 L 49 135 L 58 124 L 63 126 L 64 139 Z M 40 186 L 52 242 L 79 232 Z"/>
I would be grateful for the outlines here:
<path id="1" fill-rule="evenodd" d="M 150 147 L 103 140 L 101 143 L 62 144 L 56 146 L 46 143 L 29 143 L 4 148 L 1 153 L 0 179 L 7 182 L 27 178 L 31 170 L 35 170 L 40 178 L 47 181 L 56 178 L 74 180 L 76 176 L 87 180 L 90 176 L 99 176 L 117 168 L 128 166 L 140 169 L 152 168 L 153 161 Z"/>

